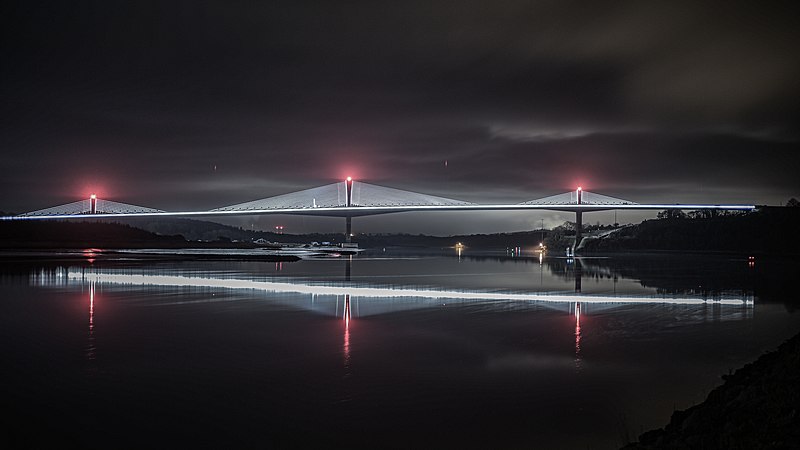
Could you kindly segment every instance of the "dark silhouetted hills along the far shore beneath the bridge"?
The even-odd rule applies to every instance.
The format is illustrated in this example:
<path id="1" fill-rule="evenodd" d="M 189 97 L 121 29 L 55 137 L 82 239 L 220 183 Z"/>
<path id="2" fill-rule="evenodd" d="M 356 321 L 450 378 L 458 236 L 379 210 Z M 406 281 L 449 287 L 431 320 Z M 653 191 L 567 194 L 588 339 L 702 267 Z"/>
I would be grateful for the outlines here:
<path id="1" fill-rule="evenodd" d="M 800 228 L 800 208 L 765 208 L 750 214 L 708 218 L 671 217 L 624 227 L 600 239 L 585 239 L 581 253 L 636 251 L 735 252 L 742 254 L 800 254 L 795 233 Z M 587 232 L 591 227 L 587 227 Z M 598 230 L 595 230 L 598 231 Z M 607 228 L 599 231 L 608 231 Z M 570 231 L 557 227 L 544 233 L 554 251 L 572 245 Z M 411 234 L 358 234 L 362 248 L 452 247 L 457 242 L 472 248 L 534 247 L 541 230 L 515 233 L 427 236 Z M 126 223 L 98 220 L 8 221 L 0 223 L 4 248 L 63 248 L 97 246 L 187 247 L 214 243 L 218 247 L 243 246 L 257 239 L 277 243 L 344 240 L 342 233 L 277 234 L 245 230 L 194 219 L 138 218 Z M 187 242 L 188 241 L 188 242 Z M 563 242 L 562 242 L 563 241 Z M 569 241 L 569 242 L 567 242 Z"/>

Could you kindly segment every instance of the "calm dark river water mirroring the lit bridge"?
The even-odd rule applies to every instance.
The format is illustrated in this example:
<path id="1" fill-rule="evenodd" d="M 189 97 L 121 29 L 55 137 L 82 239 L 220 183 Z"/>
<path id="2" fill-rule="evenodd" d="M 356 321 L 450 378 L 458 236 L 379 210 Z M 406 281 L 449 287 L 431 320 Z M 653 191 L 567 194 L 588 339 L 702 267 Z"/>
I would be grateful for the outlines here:
<path id="1" fill-rule="evenodd" d="M 800 331 L 796 269 L 392 250 L 6 259 L 4 439 L 616 448 Z"/>

